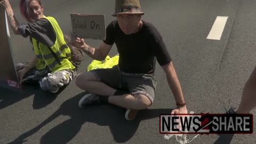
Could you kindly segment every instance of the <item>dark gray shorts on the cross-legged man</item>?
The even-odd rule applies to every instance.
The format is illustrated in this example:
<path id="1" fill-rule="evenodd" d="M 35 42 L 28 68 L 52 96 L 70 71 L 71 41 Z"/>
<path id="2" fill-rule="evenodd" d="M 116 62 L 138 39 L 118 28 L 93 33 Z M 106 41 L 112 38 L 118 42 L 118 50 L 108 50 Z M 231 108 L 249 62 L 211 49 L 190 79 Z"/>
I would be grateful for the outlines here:
<path id="1" fill-rule="evenodd" d="M 131 94 L 146 95 L 153 103 L 156 93 L 156 79 L 153 74 L 132 74 L 122 72 L 118 66 L 94 69 L 91 72 L 97 80 L 114 89 L 127 90 Z"/>

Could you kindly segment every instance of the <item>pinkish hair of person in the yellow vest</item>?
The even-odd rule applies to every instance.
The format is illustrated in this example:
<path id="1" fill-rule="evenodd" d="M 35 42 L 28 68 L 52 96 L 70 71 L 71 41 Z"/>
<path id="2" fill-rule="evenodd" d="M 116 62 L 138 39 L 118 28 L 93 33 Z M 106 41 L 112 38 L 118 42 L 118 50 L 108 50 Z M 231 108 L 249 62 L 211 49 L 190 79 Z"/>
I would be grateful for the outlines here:
<path id="1" fill-rule="evenodd" d="M 43 5 L 42 0 L 20 0 L 20 13 L 29 22 L 31 22 L 29 18 L 29 7 L 28 7 L 28 4 L 30 3 L 30 1 L 37 1 L 39 5 L 41 6 Z"/>

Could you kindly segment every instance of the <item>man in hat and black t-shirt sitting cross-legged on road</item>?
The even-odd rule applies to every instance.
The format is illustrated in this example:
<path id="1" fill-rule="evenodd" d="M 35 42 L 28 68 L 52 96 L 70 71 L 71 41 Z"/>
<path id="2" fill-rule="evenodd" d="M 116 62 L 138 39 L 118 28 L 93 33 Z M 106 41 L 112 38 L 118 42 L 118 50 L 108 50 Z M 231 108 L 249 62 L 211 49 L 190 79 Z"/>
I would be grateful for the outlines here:
<path id="1" fill-rule="evenodd" d="M 79 107 L 108 102 L 126 108 L 125 118 L 132 120 L 138 110 L 152 105 L 156 80 L 156 60 L 165 71 L 174 94 L 177 108 L 172 114 L 187 114 L 179 79 L 162 36 L 151 23 L 141 20 L 139 0 L 116 0 L 113 14 L 117 20 L 106 29 L 106 40 L 98 49 L 76 37 L 73 45 L 83 49 L 91 58 L 104 60 L 115 43 L 119 64 L 109 69 L 85 71 L 76 78 L 76 85 L 88 92 L 78 103 Z"/>

